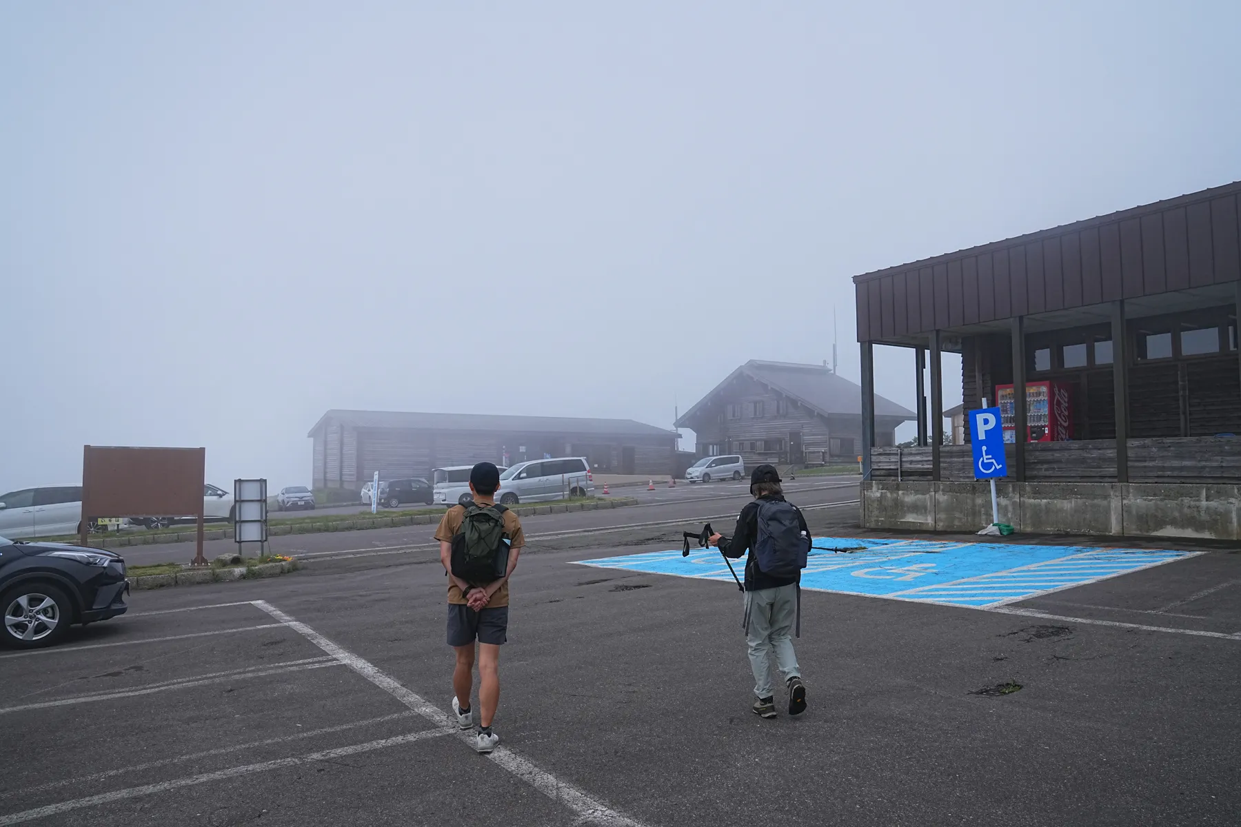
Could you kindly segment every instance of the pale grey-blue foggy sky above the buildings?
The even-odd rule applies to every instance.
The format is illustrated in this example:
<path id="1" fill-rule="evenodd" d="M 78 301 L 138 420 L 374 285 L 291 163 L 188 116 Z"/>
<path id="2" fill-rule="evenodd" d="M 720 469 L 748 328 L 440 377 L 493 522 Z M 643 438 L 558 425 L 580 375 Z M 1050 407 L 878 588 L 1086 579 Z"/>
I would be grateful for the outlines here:
<path id="1" fill-rule="evenodd" d="M 0 5 L 0 491 L 309 485 L 328 408 L 670 428 L 833 306 L 856 379 L 853 275 L 1241 179 L 1241 4 L 601 5 Z"/>

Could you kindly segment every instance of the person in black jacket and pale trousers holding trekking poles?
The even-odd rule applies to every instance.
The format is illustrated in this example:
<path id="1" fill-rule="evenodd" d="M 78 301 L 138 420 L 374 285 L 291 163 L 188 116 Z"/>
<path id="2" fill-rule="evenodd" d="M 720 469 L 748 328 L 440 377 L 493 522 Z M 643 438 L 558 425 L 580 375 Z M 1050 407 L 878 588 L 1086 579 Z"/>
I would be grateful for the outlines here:
<path id="1" fill-rule="evenodd" d="M 802 636 L 802 569 L 810 549 L 805 517 L 784 500 L 779 475 L 771 465 L 759 465 L 750 476 L 747 502 L 737 517 L 732 537 L 712 534 L 709 539 L 725 558 L 737 559 L 747 551 L 745 582 L 746 617 L 742 627 L 755 673 L 755 714 L 776 717 L 772 693 L 771 656 L 788 688 L 788 714 L 805 712 L 805 684 L 797 665 L 791 632 Z"/>

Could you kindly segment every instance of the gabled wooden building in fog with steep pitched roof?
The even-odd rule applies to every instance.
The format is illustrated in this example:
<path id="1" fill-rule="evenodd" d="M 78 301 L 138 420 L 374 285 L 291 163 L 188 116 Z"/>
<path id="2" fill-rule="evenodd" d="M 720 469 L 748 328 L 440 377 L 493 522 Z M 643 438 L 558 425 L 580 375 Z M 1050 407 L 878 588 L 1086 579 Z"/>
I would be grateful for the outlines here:
<path id="1" fill-rule="evenodd" d="M 895 445 L 896 427 L 915 418 L 875 398 L 875 438 Z M 854 462 L 861 445 L 861 388 L 827 366 L 751 360 L 676 420 L 697 434 L 697 455 L 740 454 L 761 462 Z"/>

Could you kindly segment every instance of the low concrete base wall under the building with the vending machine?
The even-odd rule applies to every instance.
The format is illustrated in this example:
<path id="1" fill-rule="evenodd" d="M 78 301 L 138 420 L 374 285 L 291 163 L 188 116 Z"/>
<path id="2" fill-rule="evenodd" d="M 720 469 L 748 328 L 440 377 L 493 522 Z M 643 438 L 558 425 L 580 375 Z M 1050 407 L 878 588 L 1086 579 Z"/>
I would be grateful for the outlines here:
<path id="1" fill-rule="evenodd" d="M 998 482 L 1000 522 L 1031 534 L 1241 539 L 1241 486 Z M 985 482 L 861 484 L 864 528 L 974 532 L 992 522 Z"/>

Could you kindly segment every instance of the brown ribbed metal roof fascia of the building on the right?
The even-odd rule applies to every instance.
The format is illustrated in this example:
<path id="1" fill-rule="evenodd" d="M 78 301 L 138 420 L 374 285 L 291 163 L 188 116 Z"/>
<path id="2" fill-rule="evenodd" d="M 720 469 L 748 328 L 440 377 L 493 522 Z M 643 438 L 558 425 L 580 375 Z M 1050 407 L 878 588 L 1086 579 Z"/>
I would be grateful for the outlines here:
<path id="1" fill-rule="evenodd" d="M 854 276 L 858 341 L 1241 279 L 1234 181 Z"/>

